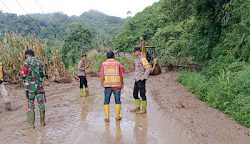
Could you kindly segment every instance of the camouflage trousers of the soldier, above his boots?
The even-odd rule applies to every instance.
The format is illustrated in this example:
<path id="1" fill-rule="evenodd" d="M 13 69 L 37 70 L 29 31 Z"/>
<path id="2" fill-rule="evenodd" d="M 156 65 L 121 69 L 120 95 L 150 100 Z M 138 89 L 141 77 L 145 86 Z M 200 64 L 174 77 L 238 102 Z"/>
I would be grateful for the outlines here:
<path id="1" fill-rule="evenodd" d="M 26 91 L 28 98 L 28 112 L 35 110 L 35 99 L 37 99 L 38 107 L 40 111 L 45 111 L 45 92 L 43 90 Z"/>

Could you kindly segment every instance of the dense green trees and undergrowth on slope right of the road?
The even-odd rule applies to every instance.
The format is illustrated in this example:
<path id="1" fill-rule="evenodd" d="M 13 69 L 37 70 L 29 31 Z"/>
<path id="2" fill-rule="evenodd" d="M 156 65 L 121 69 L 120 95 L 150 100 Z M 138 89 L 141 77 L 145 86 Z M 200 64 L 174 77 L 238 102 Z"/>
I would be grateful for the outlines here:
<path id="1" fill-rule="evenodd" d="M 179 81 L 200 99 L 250 126 L 250 0 L 160 0 L 123 25 L 114 46 L 132 51 L 142 34 L 161 64 L 198 63 Z"/>

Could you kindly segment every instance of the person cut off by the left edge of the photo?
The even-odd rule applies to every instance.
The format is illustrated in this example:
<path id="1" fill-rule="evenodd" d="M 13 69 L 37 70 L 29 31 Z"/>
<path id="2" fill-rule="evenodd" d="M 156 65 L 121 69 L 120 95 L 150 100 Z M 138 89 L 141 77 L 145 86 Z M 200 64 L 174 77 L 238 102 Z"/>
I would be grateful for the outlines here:
<path id="1" fill-rule="evenodd" d="M 0 94 L 2 95 L 4 99 L 5 109 L 11 110 L 9 94 L 4 85 L 4 70 L 3 70 L 3 65 L 1 62 L 0 62 Z"/>

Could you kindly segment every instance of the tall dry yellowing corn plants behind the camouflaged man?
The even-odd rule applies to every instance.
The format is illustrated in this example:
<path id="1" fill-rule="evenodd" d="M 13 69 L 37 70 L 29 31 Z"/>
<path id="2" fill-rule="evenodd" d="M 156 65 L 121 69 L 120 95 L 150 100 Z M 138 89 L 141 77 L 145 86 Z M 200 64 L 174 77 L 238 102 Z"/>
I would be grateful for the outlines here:
<path id="1" fill-rule="evenodd" d="M 43 61 L 50 79 L 68 75 L 62 63 L 60 53 L 52 51 L 52 58 L 49 61 L 46 56 L 47 46 L 40 39 L 35 37 L 23 38 L 16 34 L 5 34 L 4 40 L 0 42 L 0 60 L 4 65 L 6 79 L 9 83 L 21 83 L 19 73 L 24 61 L 24 52 L 27 49 L 34 50 L 35 56 Z"/>

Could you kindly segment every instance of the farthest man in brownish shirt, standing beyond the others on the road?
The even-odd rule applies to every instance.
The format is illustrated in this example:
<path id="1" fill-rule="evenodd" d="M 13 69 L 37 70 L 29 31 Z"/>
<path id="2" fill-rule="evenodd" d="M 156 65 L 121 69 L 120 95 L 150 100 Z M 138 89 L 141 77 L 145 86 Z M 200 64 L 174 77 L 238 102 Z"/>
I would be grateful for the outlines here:
<path id="1" fill-rule="evenodd" d="M 88 68 L 88 66 L 86 65 L 86 57 L 86 55 L 82 55 L 78 63 L 78 77 L 80 79 L 80 97 L 83 96 L 84 91 L 86 93 L 86 96 L 89 96 L 88 81 L 85 72 L 86 68 Z"/>

